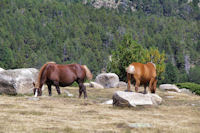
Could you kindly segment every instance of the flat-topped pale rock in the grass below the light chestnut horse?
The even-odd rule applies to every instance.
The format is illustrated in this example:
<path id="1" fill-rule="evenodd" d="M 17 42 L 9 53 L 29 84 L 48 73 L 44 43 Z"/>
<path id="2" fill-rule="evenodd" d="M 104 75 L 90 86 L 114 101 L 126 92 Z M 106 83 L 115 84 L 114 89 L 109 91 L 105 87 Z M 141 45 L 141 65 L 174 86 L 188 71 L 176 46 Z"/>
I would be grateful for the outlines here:
<path id="1" fill-rule="evenodd" d="M 162 98 L 156 94 L 116 91 L 113 95 L 114 106 L 135 107 L 137 105 L 159 105 L 161 103 Z"/>

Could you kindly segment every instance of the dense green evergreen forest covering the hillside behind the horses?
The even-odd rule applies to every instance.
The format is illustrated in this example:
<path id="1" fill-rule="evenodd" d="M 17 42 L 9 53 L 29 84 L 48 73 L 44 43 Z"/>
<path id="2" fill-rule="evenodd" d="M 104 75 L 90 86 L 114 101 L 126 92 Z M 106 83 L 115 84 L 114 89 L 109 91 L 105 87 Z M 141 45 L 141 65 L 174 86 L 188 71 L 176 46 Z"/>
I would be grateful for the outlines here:
<path id="1" fill-rule="evenodd" d="M 123 0 L 117 9 L 93 2 L 1 0 L 0 67 L 39 69 L 55 61 L 85 64 L 94 75 L 112 72 L 109 57 L 129 35 L 165 53 L 160 83 L 200 83 L 199 0 Z"/>

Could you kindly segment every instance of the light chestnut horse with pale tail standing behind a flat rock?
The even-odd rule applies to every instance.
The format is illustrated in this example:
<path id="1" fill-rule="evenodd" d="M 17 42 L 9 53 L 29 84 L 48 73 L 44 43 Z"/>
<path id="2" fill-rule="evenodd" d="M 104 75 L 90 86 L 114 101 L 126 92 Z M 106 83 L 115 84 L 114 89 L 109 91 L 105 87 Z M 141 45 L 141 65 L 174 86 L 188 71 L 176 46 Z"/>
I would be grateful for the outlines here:
<path id="1" fill-rule="evenodd" d="M 135 84 L 135 91 L 138 92 L 138 87 L 140 84 L 144 85 L 144 94 L 146 94 L 146 87 L 149 83 L 149 89 L 151 93 L 156 92 L 156 84 L 157 84 L 157 79 L 156 79 L 156 65 L 148 62 L 147 64 L 142 64 L 142 63 L 136 63 L 133 62 L 126 68 L 127 72 L 127 80 L 128 80 L 128 88 L 127 91 L 130 90 L 130 85 L 131 85 L 131 76 L 136 81 Z"/>

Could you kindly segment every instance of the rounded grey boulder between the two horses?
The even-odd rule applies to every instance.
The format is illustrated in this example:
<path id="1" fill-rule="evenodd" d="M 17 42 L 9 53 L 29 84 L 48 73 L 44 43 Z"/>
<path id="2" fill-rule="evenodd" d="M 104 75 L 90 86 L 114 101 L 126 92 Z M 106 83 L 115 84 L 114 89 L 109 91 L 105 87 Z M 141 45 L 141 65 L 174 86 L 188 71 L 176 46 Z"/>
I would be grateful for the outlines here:
<path id="1" fill-rule="evenodd" d="M 116 88 L 119 77 L 115 73 L 101 73 L 96 77 L 95 82 L 103 85 L 104 88 Z"/>

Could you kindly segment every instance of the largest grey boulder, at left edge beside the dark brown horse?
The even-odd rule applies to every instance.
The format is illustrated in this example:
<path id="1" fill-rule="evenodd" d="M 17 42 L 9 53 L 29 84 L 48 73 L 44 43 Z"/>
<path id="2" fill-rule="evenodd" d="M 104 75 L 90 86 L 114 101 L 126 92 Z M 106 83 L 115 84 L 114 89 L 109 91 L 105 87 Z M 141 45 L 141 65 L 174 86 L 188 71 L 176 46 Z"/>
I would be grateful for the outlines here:
<path id="1" fill-rule="evenodd" d="M 22 68 L 4 70 L 0 72 L 0 93 L 4 94 L 31 94 L 33 82 L 37 80 L 38 70 Z"/>

